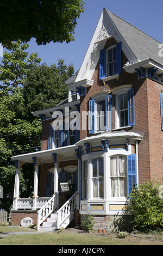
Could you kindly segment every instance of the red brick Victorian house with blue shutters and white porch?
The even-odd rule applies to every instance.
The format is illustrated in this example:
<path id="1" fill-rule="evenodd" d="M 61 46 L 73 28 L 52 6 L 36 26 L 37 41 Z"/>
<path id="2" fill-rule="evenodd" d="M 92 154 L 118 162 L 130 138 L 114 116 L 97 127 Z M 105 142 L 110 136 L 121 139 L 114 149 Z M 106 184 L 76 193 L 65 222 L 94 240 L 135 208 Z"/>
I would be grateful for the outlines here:
<path id="1" fill-rule="evenodd" d="M 66 81 L 68 99 L 33 113 L 42 120 L 41 151 L 12 157 L 11 224 L 30 217 L 38 230 L 55 230 L 78 224 L 89 210 L 96 228 L 113 230 L 135 184 L 163 181 L 160 50 L 160 42 L 103 9 L 78 75 Z M 34 163 L 32 198 L 19 197 L 24 163 Z"/>

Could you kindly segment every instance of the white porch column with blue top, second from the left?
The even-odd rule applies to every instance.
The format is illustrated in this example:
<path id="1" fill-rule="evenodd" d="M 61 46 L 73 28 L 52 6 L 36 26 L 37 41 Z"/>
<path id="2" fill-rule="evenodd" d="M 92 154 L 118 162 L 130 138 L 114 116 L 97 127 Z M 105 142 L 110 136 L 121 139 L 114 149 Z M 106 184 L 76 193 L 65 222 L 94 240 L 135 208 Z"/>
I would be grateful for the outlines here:
<path id="1" fill-rule="evenodd" d="M 34 191 L 33 191 L 33 207 L 36 210 L 36 198 L 38 197 L 38 183 L 39 183 L 39 166 L 37 165 L 37 157 L 32 157 L 35 171 L 34 171 Z"/>

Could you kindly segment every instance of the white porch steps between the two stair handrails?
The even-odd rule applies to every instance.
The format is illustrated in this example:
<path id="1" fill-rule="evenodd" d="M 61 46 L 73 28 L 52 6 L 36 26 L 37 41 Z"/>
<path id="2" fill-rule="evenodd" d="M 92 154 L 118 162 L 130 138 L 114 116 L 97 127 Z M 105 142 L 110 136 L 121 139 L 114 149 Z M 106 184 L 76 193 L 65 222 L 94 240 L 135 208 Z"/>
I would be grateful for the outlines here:
<path id="1" fill-rule="evenodd" d="M 66 228 L 68 224 L 73 220 L 74 212 L 66 218 L 66 220 L 61 224 L 60 228 Z M 40 231 L 55 231 L 57 230 L 57 214 L 51 214 L 50 217 L 46 219 L 46 221 L 42 222 L 42 226 L 40 226 Z"/>

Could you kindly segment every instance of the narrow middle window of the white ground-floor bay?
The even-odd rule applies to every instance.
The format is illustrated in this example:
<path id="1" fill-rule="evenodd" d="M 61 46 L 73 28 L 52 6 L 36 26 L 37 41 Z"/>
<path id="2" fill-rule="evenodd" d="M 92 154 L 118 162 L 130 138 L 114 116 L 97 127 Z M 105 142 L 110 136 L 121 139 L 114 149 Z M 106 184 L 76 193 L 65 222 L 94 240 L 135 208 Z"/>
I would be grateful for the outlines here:
<path id="1" fill-rule="evenodd" d="M 104 197 L 104 163 L 103 157 L 92 159 L 93 198 Z"/>

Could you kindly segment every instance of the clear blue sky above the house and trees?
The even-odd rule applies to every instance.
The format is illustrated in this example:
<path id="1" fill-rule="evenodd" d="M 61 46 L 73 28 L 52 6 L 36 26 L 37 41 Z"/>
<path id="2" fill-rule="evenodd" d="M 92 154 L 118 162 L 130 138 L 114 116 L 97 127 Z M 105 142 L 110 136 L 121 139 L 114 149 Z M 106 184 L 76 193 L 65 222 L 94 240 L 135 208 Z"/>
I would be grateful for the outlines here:
<path id="1" fill-rule="evenodd" d="M 155 2 L 152 0 L 85 0 L 84 2 L 84 13 L 78 19 L 74 34 L 75 41 L 69 44 L 50 43 L 37 46 L 32 39 L 29 42 L 28 52 L 37 52 L 42 60 L 41 63 L 46 63 L 48 66 L 57 64 L 60 58 L 65 60 L 66 65 L 72 63 L 75 71 L 78 70 L 104 7 L 154 39 L 163 42 L 162 0 Z"/>

